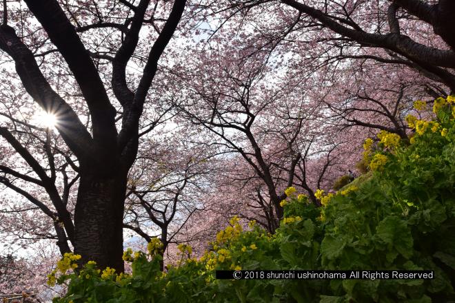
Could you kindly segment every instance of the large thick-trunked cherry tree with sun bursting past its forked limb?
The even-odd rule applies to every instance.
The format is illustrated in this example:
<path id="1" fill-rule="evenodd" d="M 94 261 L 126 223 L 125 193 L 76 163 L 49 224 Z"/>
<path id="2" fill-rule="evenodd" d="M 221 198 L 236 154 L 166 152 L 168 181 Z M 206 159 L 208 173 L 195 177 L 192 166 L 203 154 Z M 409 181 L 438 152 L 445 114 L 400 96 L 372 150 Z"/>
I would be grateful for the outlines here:
<path id="1" fill-rule="evenodd" d="M 77 167 L 72 167 L 79 179 L 74 221 L 62 198 L 65 194 L 55 185 L 57 173 L 64 176 L 63 171 L 54 167 L 50 155 L 49 166 L 43 167 L 30 145 L 8 126 L 0 128 L 2 145 L 8 143 L 27 168 L 3 165 L 1 171 L 9 178 L 1 180 L 54 219 L 56 233 L 67 243 L 63 250 L 70 242 L 83 262 L 95 260 L 100 267 L 123 271 L 122 220 L 128 171 L 136 158 L 140 134 L 150 128 L 141 116 L 158 61 L 174 35 L 186 1 L 132 4 L 120 0 L 103 5 L 24 2 L 25 6 L 3 1 L 2 60 L 14 62 L 29 102 L 32 99 L 56 117 L 59 138 L 71 151 L 72 162 L 77 159 Z M 148 32 L 141 37 L 146 40 L 142 44 L 141 31 Z M 150 41 L 154 41 L 152 45 Z M 76 87 L 68 95 L 54 81 L 55 58 L 67 72 L 59 75 L 60 81 L 67 79 Z M 129 72 L 129 64 L 139 70 L 136 77 Z M 79 109 L 88 113 L 85 121 L 79 117 L 83 113 Z M 44 138 L 52 136 L 46 132 Z M 41 187 L 52 209 L 26 189 L 15 187 L 11 176 Z"/>

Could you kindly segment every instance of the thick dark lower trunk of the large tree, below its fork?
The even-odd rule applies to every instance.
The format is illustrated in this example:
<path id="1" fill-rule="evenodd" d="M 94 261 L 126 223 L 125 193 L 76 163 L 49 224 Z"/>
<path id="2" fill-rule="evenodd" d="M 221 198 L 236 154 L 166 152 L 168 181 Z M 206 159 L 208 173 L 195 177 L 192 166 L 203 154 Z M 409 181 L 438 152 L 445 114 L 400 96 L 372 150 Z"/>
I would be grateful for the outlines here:
<path id="1" fill-rule="evenodd" d="M 109 169 L 104 174 L 81 173 L 74 209 L 74 253 L 81 263 L 93 260 L 100 269 L 123 272 L 123 208 L 126 172 Z"/>

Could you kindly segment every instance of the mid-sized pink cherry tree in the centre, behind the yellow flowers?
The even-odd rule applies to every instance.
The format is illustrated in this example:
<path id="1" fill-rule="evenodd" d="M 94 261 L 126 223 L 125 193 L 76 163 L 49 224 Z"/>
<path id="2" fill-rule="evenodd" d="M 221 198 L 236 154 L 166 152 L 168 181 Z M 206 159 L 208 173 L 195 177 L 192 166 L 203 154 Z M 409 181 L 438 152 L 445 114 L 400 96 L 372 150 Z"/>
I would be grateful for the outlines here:
<path id="1" fill-rule="evenodd" d="M 311 100 L 310 88 L 299 86 L 300 78 L 288 79 L 290 73 L 270 66 L 267 55 L 256 52 L 245 59 L 244 54 L 242 48 L 235 52 L 223 46 L 222 51 L 201 50 L 192 64 L 185 61 L 188 69 L 180 75 L 185 100 L 175 105 L 181 117 L 205 129 L 205 144 L 233 154 L 224 160 L 214 185 L 235 193 L 232 198 L 223 194 L 230 214 L 239 211 L 273 232 L 283 217 L 287 187 L 301 187 L 320 205 L 314 192 L 328 168 L 339 164 L 332 156 L 341 143 L 330 140 L 333 134 L 319 119 L 325 104 Z M 317 173 L 309 171 L 318 157 L 325 164 Z M 247 200 L 243 210 L 234 207 L 235 200 Z"/>

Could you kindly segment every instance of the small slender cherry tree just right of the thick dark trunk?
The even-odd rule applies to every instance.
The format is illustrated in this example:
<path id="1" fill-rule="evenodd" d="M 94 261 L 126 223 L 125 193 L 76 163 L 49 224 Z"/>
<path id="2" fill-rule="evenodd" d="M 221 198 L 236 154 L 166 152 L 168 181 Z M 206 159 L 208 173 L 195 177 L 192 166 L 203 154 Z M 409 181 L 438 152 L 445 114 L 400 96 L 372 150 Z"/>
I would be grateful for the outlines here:
<path id="1" fill-rule="evenodd" d="M 182 130 L 159 142 L 150 140 L 129 175 L 123 227 L 147 242 L 158 237 L 163 251 L 171 243 L 188 242 L 183 240 L 187 235 L 176 236 L 194 212 L 203 210 L 214 176 L 210 149 L 188 141 Z"/>

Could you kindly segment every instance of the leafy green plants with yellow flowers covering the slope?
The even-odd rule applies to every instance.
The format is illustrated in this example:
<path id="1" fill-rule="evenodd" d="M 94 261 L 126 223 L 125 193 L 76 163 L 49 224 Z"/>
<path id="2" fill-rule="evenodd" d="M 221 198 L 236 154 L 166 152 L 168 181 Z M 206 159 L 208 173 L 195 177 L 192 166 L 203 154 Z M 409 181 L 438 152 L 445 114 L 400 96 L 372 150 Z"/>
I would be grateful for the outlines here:
<path id="1" fill-rule="evenodd" d="M 62 275 L 54 302 L 448 302 L 455 300 L 455 114 L 420 125 L 411 144 L 381 134 L 381 161 L 325 207 L 290 195 L 274 235 L 237 218 L 199 260 L 161 273 L 161 255 L 128 254 L 132 274 L 94 264 Z M 432 123 L 432 124 L 430 124 Z M 374 155 L 373 155 L 374 156 Z M 376 157 L 378 158 L 378 157 Z M 360 179 L 360 178 L 359 178 Z M 216 280 L 216 269 L 426 269 L 434 280 Z"/>

